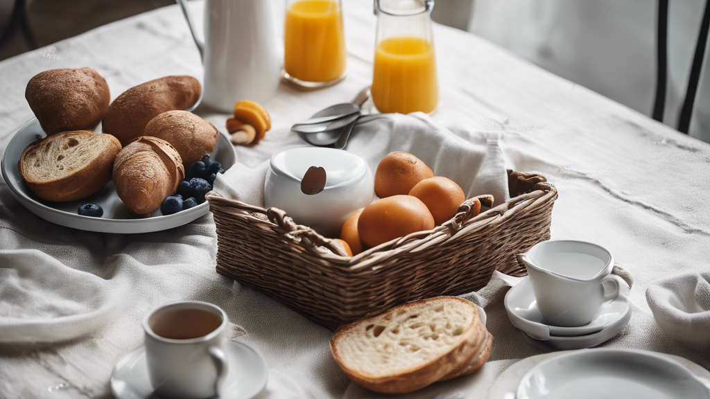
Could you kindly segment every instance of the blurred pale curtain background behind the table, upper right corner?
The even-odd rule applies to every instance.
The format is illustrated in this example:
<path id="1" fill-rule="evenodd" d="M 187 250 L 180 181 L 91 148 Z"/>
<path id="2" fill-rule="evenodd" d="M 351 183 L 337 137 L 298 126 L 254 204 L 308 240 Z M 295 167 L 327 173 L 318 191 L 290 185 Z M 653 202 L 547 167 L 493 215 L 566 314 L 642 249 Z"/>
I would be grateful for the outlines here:
<path id="1" fill-rule="evenodd" d="M 702 0 L 669 2 L 663 121 L 673 128 L 677 128 L 704 4 Z M 656 90 L 657 6 L 652 0 L 437 0 L 433 17 L 467 28 L 650 116 Z M 461 23 L 461 15 L 469 16 L 467 26 Z M 706 142 L 710 142 L 709 56 L 705 55 L 689 131 Z"/>

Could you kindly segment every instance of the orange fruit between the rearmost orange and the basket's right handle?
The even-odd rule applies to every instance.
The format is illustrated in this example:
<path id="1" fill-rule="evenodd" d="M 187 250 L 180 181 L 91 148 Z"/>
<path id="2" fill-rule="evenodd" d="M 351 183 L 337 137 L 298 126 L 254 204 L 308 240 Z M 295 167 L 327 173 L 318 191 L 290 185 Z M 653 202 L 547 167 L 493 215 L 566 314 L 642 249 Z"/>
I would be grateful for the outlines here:
<path id="1" fill-rule="evenodd" d="M 464 190 L 456 182 L 440 176 L 418 182 L 409 195 L 424 202 L 437 226 L 454 217 L 459 205 L 466 201 Z"/>

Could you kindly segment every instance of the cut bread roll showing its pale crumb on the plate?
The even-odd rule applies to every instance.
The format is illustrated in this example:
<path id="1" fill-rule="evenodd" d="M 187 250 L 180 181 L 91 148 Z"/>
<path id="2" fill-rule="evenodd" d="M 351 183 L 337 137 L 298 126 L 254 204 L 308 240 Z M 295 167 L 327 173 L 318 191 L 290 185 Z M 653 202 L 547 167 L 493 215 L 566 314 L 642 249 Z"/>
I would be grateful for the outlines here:
<path id="1" fill-rule="evenodd" d="M 81 200 L 111 180 L 121 143 L 110 134 L 65 131 L 31 143 L 20 155 L 27 187 L 51 202 Z"/>

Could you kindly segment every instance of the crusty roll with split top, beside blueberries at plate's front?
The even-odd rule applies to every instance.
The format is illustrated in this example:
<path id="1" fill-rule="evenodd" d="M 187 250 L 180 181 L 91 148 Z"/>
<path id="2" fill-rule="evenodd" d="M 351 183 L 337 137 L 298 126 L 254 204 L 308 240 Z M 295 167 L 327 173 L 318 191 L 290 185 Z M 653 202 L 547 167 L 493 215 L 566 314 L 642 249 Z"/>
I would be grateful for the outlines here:
<path id="1" fill-rule="evenodd" d="M 178 151 L 167 141 L 138 137 L 116 155 L 114 185 L 131 212 L 151 214 L 185 178 Z"/>

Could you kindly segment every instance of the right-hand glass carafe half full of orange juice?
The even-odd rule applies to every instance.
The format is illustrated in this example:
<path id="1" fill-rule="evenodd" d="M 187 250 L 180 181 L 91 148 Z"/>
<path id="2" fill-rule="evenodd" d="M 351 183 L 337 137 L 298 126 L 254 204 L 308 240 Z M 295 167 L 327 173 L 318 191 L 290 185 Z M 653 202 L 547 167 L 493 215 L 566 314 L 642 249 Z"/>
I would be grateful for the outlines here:
<path id="1" fill-rule="evenodd" d="M 372 100 L 383 113 L 434 111 L 439 104 L 433 0 L 375 0 Z"/>

